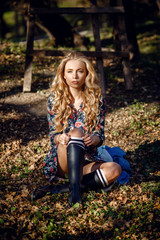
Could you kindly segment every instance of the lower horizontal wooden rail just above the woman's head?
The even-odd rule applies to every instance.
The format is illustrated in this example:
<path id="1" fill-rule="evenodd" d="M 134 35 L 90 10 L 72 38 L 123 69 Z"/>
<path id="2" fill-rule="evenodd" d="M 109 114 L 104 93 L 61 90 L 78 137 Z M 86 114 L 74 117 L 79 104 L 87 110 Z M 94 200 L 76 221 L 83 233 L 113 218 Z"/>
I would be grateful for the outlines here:
<path id="1" fill-rule="evenodd" d="M 28 52 L 29 56 L 37 56 L 37 57 L 43 57 L 43 56 L 65 56 L 70 51 L 66 50 L 32 50 Z M 82 54 L 88 56 L 88 57 L 103 57 L 103 58 L 112 58 L 112 57 L 118 57 L 118 58 L 128 58 L 129 53 L 125 51 L 119 51 L 119 52 L 112 52 L 112 51 L 80 51 Z"/>

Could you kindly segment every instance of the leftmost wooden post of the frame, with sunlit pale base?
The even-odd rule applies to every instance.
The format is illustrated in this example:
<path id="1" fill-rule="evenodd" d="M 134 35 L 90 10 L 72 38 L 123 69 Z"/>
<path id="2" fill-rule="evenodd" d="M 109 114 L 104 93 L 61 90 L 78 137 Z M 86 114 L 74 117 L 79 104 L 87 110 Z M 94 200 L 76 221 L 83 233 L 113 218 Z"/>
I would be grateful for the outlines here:
<path id="1" fill-rule="evenodd" d="M 34 15 L 29 14 L 27 19 L 27 50 L 26 50 L 23 92 L 31 91 L 33 56 L 30 56 L 29 52 L 33 50 L 34 28 L 35 28 L 35 17 Z"/>

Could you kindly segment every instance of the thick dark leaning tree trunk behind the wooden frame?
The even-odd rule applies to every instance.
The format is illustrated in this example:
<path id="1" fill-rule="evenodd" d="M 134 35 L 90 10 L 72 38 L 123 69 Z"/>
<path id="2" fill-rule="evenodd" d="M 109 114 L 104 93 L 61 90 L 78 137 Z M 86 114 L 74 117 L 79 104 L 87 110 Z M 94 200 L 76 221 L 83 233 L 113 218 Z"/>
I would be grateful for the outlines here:
<path id="1" fill-rule="evenodd" d="M 24 16 L 27 17 L 28 4 L 31 3 L 32 7 L 35 8 L 56 8 L 62 4 L 62 0 L 7 0 L 12 5 L 12 8 L 15 11 L 21 12 Z M 81 0 L 74 2 L 74 5 L 81 4 Z M 66 3 L 65 3 L 66 4 Z M 78 16 L 76 16 L 76 19 Z M 67 20 L 66 16 L 60 14 L 36 14 L 35 23 L 36 29 L 35 32 L 40 35 L 46 33 L 50 39 L 50 45 L 61 45 L 67 47 L 80 47 L 86 48 L 85 45 L 89 44 L 87 38 L 80 36 L 76 31 L 76 28 L 73 28 L 71 23 Z M 70 19 L 70 18 L 69 18 Z M 42 30 L 42 31 L 41 31 Z"/>

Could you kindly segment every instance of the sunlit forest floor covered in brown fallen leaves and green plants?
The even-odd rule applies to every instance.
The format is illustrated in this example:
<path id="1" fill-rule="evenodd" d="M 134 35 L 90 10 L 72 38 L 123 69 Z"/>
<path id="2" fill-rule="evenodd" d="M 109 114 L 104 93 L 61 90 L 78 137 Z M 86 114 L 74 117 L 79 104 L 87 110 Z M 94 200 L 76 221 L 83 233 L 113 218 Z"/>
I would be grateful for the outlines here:
<path id="1" fill-rule="evenodd" d="M 5 43 L 0 65 L 0 239 L 160 239 L 159 56 L 142 54 L 132 63 L 133 90 L 124 87 L 122 66 L 106 60 L 105 144 L 127 154 L 127 185 L 83 195 L 68 207 L 68 194 L 31 202 L 33 189 L 47 182 L 42 165 L 49 151 L 47 98 L 57 58 L 33 61 L 32 92 L 23 93 L 25 54 Z"/>

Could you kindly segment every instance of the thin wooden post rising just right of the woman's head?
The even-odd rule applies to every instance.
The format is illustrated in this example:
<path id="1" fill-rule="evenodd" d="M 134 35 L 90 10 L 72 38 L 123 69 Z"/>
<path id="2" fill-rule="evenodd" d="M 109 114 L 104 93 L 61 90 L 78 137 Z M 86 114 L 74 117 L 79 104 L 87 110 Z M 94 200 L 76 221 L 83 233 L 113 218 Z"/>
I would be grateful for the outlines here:
<path id="1" fill-rule="evenodd" d="M 93 8 L 97 6 L 96 0 L 91 0 L 93 4 Z M 101 40 L 100 40 L 100 29 L 99 29 L 99 21 L 98 14 L 92 14 L 92 27 L 93 27 L 93 35 L 95 41 L 96 51 L 101 52 Z M 98 77 L 100 79 L 102 92 L 105 95 L 105 79 L 104 79 L 104 69 L 103 69 L 103 57 L 96 57 L 97 62 L 97 71 Z"/>

